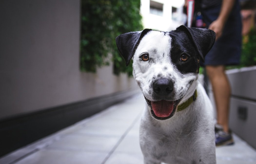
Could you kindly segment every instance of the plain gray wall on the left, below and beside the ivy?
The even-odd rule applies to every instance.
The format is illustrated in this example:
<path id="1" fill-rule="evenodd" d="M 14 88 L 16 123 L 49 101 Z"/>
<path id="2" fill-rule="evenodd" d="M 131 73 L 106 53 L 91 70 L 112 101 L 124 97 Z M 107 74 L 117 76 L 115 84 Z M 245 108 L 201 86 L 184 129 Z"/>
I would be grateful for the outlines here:
<path id="1" fill-rule="evenodd" d="M 79 70 L 79 0 L 1 0 L 0 21 L 0 119 L 138 88 Z"/>

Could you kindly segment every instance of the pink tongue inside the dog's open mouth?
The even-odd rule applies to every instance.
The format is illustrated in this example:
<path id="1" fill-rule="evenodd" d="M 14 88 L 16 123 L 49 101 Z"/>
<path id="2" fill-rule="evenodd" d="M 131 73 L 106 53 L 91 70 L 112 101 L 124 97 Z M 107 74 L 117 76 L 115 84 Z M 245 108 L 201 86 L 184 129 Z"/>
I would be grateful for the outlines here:
<path id="1" fill-rule="evenodd" d="M 157 117 L 168 117 L 173 111 L 173 101 L 152 101 L 152 109 Z"/>

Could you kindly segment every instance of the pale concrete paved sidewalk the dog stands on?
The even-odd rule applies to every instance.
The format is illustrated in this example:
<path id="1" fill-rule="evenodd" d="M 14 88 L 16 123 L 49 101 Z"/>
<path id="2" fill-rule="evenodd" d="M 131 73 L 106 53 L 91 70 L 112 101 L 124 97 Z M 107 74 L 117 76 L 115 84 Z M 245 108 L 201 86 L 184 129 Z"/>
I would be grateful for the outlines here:
<path id="1" fill-rule="evenodd" d="M 66 129 L 18 149 L 1 164 L 142 164 L 139 123 L 143 95 L 109 107 Z M 256 150 L 235 134 L 235 144 L 216 148 L 218 164 L 255 164 Z"/>

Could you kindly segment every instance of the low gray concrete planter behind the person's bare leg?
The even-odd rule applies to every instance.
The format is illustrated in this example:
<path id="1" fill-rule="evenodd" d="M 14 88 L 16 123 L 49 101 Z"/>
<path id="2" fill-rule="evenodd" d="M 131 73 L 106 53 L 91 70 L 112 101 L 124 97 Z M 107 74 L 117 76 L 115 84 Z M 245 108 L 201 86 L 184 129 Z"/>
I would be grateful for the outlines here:
<path id="1" fill-rule="evenodd" d="M 256 148 L 256 66 L 226 71 L 232 93 L 230 99 L 230 129 Z M 214 104 L 211 86 L 209 97 Z"/>

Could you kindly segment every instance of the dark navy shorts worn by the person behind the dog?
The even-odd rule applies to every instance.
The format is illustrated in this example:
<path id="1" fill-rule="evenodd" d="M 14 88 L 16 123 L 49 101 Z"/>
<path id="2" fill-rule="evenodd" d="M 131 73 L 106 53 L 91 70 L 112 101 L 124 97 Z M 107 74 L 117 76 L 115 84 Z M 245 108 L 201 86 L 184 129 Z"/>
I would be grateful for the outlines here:
<path id="1" fill-rule="evenodd" d="M 221 6 L 201 10 L 207 27 L 219 16 Z M 225 24 L 222 36 L 215 42 L 202 65 L 236 65 L 240 61 L 242 22 L 238 1 Z"/>

